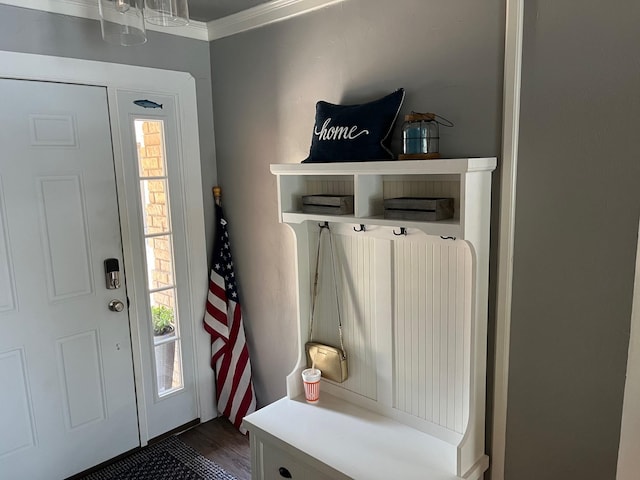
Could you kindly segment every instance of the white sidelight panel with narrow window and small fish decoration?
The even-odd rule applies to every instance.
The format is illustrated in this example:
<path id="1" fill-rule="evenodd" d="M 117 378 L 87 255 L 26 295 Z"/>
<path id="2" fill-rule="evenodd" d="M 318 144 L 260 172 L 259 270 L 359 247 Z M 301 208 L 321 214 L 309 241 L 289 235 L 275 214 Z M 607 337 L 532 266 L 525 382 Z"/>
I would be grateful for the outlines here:
<path id="1" fill-rule="evenodd" d="M 134 103 L 139 100 L 154 102 L 157 107 Z M 174 96 L 117 92 L 126 197 L 132 199 L 128 229 L 132 238 L 141 239 L 131 245 L 127 268 L 132 312 L 138 318 L 144 372 L 139 383 L 140 408 L 147 421 L 148 439 L 195 420 L 199 414 L 193 326 L 201 324 L 202 314 L 193 309 L 176 103 Z M 161 200 L 156 203 L 158 193 Z M 139 201 L 134 204 L 135 199 Z M 157 241 L 164 244 L 158 246 Z M 159 342 L 165 340 L 154 336 L 151 328 L 151 311 L 163 305 L 158 298 L 163 293 L 171 297 L 166 304 L 176 324 L 173 337 L 164 346 Z M 172 355 L 165 360 L 167 347 Z"/>

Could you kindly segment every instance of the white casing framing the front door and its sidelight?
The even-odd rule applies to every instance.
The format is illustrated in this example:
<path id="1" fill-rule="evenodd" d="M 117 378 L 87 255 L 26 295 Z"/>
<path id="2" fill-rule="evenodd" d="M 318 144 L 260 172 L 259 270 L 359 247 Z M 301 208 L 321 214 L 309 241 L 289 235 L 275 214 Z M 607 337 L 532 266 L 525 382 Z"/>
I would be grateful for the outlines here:
<path id="1" fill-rule="evenodd" d="M 181 127 L 181 156 L 183 158 L 185 203 L 189 205 L 190 215 L 185 219 L 188 242 L 188 269 L 193 284 L 192 311 L 195 355 L 197 359 L 196 383 L 199 403 L 200 419 L 210 420 L 217 416 L 213 394 L 213 372 L 208 361 L 210 358 L 210 343 L 208 336 L 197 335 L 202 331 L 202 316 L 207 296 L 207 254 L 204 229 L 204 208 L 202 203 L 202 180 L 200 165 L 200 145 L 198 138 L 198 116 L 196 103 L 195 79 L 185 72 L 159 70 L 155 68 L 120 65 L 91 60 L 51 57 L 28 53 L 6 52 L 0 50 L 0 77 L 20 78 L 29 80 L 57 81 L 84 85 L 97 85 L 107 88 L 109 100 L 112 101 L 118 90 L 137 90 L 145 93 L 177 95 L 180 99 L 179 112 Z M 111 119 L 114 121 L 112 116 Z M 124 195 L 121 171 L 122 142 L 119 128 L 114 125 L 111 129 L 114 161 L 116 163 L 116 181 L 118 182 L 119 197 Z M 127 228 L 128 212 L 127 200 L 137 199 L 119 198 L 122 244 L 125 256 L 131 255 L 131 234 Z M 131 260 L 129 260 L 131 263 Z M 197 313 L 196 313 L 197 312 Z M 138 332 L 139 319 L 135 309 L 130 310 L 132 342 L 135 347 L 140 340 Z M 204 333 L 204 332 L 203 332 Z M 136 395 L 144 395 L 142 389 L 142 363 L 140 353 L 133 348 L 134 370 L 136 372 Z M 146 409 L 144 399 L 138 398 L 138 412 L 140 416 L 141 442 L 146 444 L 147 432 L 145 426 Z"/>

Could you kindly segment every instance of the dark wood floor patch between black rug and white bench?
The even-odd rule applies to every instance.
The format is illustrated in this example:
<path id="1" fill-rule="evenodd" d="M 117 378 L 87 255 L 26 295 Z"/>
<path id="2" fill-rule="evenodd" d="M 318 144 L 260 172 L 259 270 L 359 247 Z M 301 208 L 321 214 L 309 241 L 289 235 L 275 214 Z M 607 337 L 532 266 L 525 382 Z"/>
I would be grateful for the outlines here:
<path id="1" fill-rule="evenodd" d="M 251 480 L 249 437 L 242 435 L 226 418 L 201 423 L 178 437 L 238 480 Z"/>

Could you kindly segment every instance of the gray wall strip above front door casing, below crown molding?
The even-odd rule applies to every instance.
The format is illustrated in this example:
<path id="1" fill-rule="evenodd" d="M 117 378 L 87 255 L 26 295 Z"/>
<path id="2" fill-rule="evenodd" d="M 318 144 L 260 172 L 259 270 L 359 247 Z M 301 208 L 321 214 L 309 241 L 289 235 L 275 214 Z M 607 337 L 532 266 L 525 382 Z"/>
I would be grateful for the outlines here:
<path id="1" fill-rule="evenodd" d="M 0 5 L 0 49 L 81 58 L 189 72 L 196 80 L 207 245 L 213 245 L 213 199 L 217 182 L 209 43 L 147 32 L 147 43 L 134 47 L 102 40 L 100 23 L 66 15 Z M 211 248 L 209 248 L 209 251 Z"/>

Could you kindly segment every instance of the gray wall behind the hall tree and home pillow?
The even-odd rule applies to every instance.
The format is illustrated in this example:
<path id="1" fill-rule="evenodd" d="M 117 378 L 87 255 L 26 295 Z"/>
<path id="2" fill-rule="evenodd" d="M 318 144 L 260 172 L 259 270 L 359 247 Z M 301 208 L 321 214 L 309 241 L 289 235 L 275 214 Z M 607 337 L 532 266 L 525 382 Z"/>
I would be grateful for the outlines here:
<path id="1" fill-rule="evenodd" d="M 212 42 L 218 175 L 260 405 L 285 394 L 298 348 L 293 235 L 277 223 L 269 164 L 308 155 L 316 101 L 398 87 L 402 115 L 455 123 L 443 156 L 497 156 L 503 43 L 503 0 L 348 0 Z"/>

